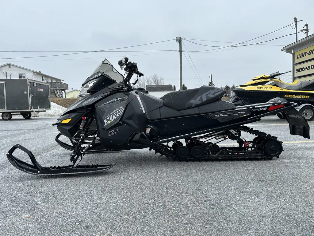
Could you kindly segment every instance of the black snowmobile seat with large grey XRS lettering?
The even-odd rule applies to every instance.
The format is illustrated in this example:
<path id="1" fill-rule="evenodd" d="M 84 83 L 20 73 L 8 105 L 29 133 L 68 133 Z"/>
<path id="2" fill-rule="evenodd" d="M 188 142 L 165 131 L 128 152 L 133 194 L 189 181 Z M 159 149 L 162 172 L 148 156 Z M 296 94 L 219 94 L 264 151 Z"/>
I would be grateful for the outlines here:
<path id="1" fill-rule="evenodd" d="M 218 101 L 225 90 L 212 86 L 202 86 L 165 94 L 161 99 L 164 105 L 180 111 Z"/>

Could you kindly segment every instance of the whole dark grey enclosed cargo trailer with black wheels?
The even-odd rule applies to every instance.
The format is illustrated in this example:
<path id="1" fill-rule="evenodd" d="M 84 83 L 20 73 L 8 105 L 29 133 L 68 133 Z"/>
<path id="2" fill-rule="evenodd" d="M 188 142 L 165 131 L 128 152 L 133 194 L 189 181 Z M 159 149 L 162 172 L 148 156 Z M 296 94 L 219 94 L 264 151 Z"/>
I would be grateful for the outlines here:
<path id="1" fill-rule="evenodd" d="M 12 115 L 22 115 L 25 119 L 32 112 L 50 110 L 49 83 L 30 79 L 0 79 L 0 113 L 3 120 L 11 120 Z"/>

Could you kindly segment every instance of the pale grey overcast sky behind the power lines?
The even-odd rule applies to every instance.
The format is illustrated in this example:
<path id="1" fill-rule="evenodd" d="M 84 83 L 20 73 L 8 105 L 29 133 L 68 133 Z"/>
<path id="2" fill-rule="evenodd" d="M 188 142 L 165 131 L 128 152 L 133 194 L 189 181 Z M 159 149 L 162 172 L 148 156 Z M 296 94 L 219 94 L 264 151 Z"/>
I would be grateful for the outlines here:
<path id="1" fill-rule="evenodd" d="M 314 33 L 313 0 L 264 1 L 2 1 L 0 14 L 0 51 L 92 51 L 120 48 L 175 39 L 244 42 L 281 27 L 298 22 L 298 30 L 308 23 Z M 260 41 L 294 33 L 290 26 Z M 279 32 L 279 33 L 278 33 Z M 298 38 L 305 37 L 299 33 Z M 269 35 L 267 35 L 269 36 Z M 266 37 L 266 36 L 265 36 Z M 253 40 L 256 41 L 256 40 Z M 250 41 L 250 42 L 253 42 Z M 208 50 L 183 41 L 188 51 Z M 193 41 L 212 46 L 231 43 Z M 287 45 L 295 35 L 268 42 Z M 178 50 L 173 40 L 123 50 Z M 239 85 L 260 74 L 291 70 L 291 55 L 282 46 L 251 45 L 210 53 L 192 53 L 201 82 L 183 55 L 183 83 L 188 88 L 207 85 L 210 74 L 216 86 Z M 229 49 L 229 48 L 228 48 Z M 183 46 L 183 50 L 185 50 Z M 224 51 L 223 51 L 224 50 Z M 60 53 L 0 52 L 0 58 L 53 55 Z M 146 54 L 146 55 L 143 55 Z M 150 54 L 150 55 L 147 55 Z M 165 84 L 179 87 L 179 53 L 172 52 L 95 52 L 28 59 L 0 59 L 63 79 L 69 87 L 79 89 L 103 58 L 120 68 L 117 61 L 127 55 L 138 63 L 145 76 L 164 77 Z M 187 52 L 185 55 L 188 57 Z M 191 62 L 190 62 L 191 63 Z M 191 63 L 192 65 L 192 63 Z M 192 65 L 193 66 L 193 65 Z M 202 83 L 203 82 L 203 83 Z"/>

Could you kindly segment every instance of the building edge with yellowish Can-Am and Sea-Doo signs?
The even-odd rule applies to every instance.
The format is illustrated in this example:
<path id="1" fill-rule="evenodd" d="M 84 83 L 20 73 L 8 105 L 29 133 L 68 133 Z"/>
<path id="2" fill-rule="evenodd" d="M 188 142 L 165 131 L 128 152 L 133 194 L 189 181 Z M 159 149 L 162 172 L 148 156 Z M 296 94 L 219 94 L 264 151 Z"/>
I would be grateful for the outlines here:
<path id="1" fill-rule="evenodd" d="M 293 81 L 314 79 L 314 34 L 285 46 L 281 51 L 292 55 Z"/>

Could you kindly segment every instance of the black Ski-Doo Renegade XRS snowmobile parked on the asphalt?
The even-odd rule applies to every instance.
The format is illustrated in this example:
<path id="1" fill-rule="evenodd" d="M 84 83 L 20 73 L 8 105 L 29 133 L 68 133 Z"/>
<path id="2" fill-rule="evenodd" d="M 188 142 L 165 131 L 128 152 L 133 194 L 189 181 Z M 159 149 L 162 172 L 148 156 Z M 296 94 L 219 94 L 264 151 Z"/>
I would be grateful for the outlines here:
<path id="1" fill-rule="evenodd" d="M 19 144 L 7 153 L 10 163 L 21 171 L 39 175 L 104 171 L 114 164 L 78 164 L 89 152 L 143 148 L 180 161 L 272 159 L 282 152 L 282 142 L 244 125 L 279 111 L 289 122 L 290 134 L 310 138 L 309 125 L 295 110 L 296 103 L 275 98 L 267 103 L 236 107 L 221 99 L 225 93 L 223 89 L 210 86 L 156 98 L 143 88 L 131 86 L 137 82 L 130 82 L 133 74 L 143 76 L 136 63 L 124 57 L 118 65 L 124 68 L 126 76 L 105 59 L 82 84 L 78 95 L 81 99 L 53 124 L 60 131 L 57 143 L 72 150 L 72 165 L 42 167 L 34 155 Z M 247 141 L 241 138 L 242 132 L 256 137 Z M 61 135 L 71 143 L 61 142 Z M 218 146 L 228 139 L 236 140 L 238 146 Z M 27 153 L 32 164 L 14 157 L 16 149 Z"/>

